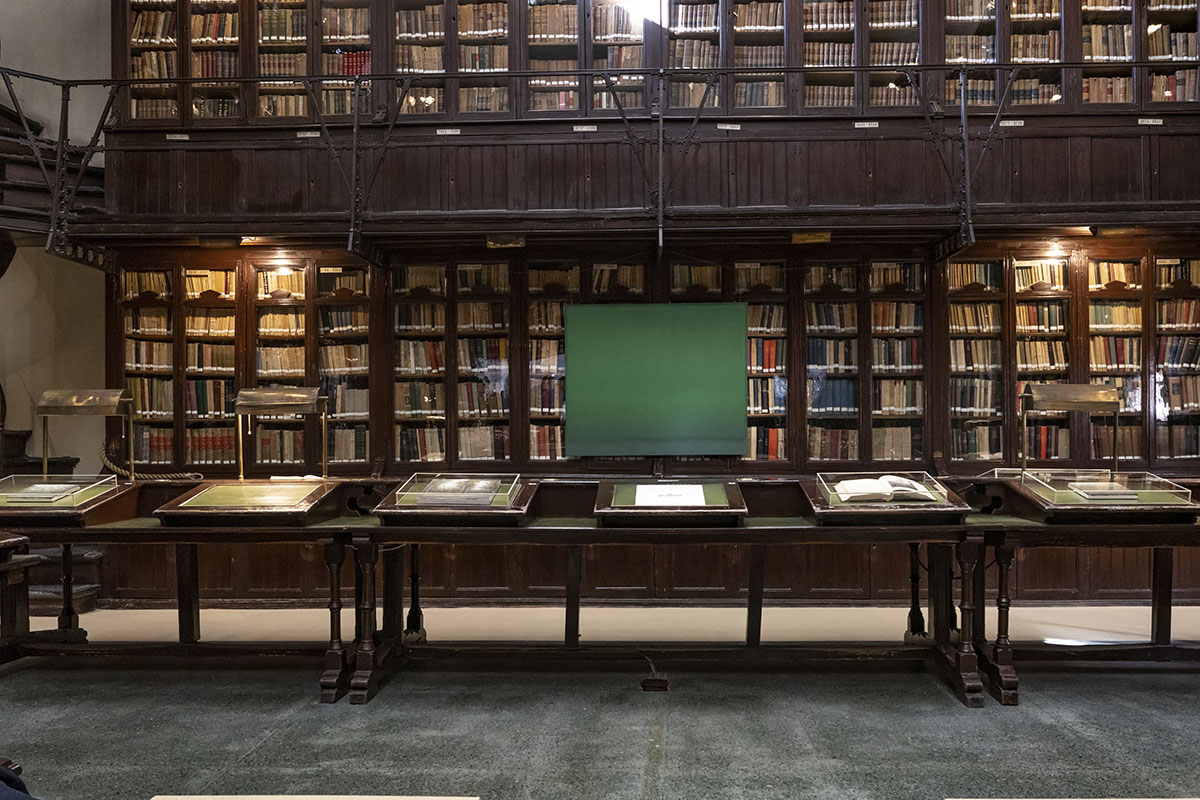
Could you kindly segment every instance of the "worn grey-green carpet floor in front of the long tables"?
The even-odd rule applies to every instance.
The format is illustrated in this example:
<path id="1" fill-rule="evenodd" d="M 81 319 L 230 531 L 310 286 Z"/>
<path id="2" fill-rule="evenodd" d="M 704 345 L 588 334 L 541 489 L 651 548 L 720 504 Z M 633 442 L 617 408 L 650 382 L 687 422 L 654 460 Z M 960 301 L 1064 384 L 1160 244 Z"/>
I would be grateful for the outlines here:
<path id="1" fill-rule="evenodd" d="M 16 668 L 14 668 L 16 667 Z M 0 669 L 0 754 L 43 800 L 1200 796 L 1200 670 L 1024 674 L 965 709 L 920 672 L 402 673 L 319 705 L 317 670 Z"/>

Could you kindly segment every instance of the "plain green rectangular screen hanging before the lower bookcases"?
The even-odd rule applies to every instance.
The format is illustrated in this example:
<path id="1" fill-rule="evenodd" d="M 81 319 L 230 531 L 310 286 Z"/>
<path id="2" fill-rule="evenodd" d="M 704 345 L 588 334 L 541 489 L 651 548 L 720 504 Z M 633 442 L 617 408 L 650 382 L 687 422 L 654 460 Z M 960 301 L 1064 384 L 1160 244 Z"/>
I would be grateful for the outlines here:
<path id="1" fill-rule="evenodd" d="M 746 305 L 566 307 L 568 456 L 740 456 Z"/>

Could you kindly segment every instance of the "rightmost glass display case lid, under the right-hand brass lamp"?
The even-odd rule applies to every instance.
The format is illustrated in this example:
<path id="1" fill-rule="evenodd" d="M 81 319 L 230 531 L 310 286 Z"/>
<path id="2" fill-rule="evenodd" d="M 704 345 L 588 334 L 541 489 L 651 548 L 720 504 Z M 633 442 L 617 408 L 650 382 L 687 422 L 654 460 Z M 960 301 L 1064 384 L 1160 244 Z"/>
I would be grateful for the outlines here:
<path id="1" fill-rule="evenodd" d="M 1027 470 L 1021 486 L 1056 506 L 1187 505 L 1192 492 L 1151 473 L 1106 469 Z"/>

